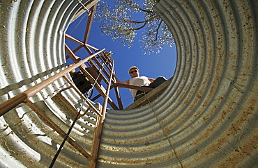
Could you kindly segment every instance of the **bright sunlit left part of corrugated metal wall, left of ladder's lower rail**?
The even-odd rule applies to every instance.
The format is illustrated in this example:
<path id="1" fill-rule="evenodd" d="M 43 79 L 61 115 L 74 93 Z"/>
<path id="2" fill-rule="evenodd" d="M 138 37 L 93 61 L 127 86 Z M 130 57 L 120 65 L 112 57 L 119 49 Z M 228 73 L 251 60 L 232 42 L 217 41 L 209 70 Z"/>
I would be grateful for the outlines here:
<path id="1" fill-rule="evenodd" d="M 66 67 L 64 33 L 79 8 L 82 6 L 78 1 L 1 1 L 1 103 Z M 33 96 L 31 101 L 67 132 L 73 115 L 66 115 L 68 112 L 59 109 L 52 100 L 65 87 L 68 83 L 61 78 Z M 61 94 L 75 108 L 80 108 L 82 99 L 73 89 Z M 63 140 L 60 135 L 25 104 L 0 120 L 0 167 L 50 166 Z M 71 133 L 88 152 L 91 148 L 86 144 L 91 144 L 92 133 L 84 136 L 93 131 L 95 122 L 96 115 L 89 112 L 77 121 Z M 66 143 L 55 166 L 79 167 L 87 165 L 85 160 Z"/>

